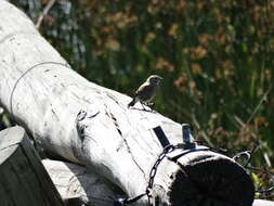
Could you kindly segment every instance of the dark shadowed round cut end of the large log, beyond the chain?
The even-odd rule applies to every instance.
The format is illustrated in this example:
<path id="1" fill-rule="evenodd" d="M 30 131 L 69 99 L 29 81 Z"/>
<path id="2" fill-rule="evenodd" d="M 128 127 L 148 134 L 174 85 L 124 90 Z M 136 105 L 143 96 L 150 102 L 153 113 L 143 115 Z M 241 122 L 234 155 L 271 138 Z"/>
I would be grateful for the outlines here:
<path id="1" fill-rule="evenodd" d="M 172 206 L 251 206 L 255 186 L 245 169 L 213 152 L 194 152 L 178 163 L 168 192 Z"/>

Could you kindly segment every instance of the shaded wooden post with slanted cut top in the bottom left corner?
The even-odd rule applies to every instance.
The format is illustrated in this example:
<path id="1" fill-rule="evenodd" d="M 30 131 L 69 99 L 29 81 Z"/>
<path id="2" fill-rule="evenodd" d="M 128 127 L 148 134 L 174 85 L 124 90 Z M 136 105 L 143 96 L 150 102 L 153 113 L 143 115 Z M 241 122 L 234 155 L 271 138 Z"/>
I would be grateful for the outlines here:
<path id="1" fill-rule="evenodd" d="M 64 206 L 22 127 L 0 132 L 0 205 Z"/>

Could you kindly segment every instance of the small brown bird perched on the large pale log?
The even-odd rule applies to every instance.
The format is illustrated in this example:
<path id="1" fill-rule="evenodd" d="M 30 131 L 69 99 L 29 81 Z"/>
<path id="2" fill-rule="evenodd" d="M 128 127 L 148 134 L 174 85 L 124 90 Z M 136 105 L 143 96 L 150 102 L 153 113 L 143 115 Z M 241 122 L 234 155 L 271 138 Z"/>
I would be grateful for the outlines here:
<path id="1" fill-rule="evenodd" d="M 144 108 L 144 105 L 151 105 L 151 101 L 156 95 L 156 91 L 159 88 L 161 77 L 158 75 L 149 76 L 146 81 L 140 86 L 135 91 L 133 100 L 128 104 L 128 107 L 134 106 L 135 103 L 140 102 Z M 145 110 L 145 108 L 144 108 Z"/>

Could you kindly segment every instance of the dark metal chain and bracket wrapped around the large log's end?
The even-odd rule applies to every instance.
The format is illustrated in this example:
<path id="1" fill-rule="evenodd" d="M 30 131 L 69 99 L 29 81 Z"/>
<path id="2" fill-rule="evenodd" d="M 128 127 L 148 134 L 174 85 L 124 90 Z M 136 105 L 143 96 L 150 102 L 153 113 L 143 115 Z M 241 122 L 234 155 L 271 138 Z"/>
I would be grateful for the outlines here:
<path id="1" fill-rule="evenodd" d="M 173 163 L 177 163 L 177 160 L 180 157 L 182 157 L 188 153 L 192 153 L 192 152 L 212 151 L 212 152 L 221 153 L 221 154 L 227 153 L 227 151 L 224 149 L 216 149 L 216 147 L 200 145 L 197 141 L 194 140 L 193 133 L 192 133 L 188 125 L 186 125 L 186 124 L 182 125 L 182 128 L 183 128 L 183 143 L 177 144 L 177 145 L 170 144 L 170 142 L 169 142 L 168 138 L 166 137 L 165 132 L 162 131 L 161 127 L 158 126 L 153 129 L 155 134 L 157 136 L 161 146 L 164 147 L 164 150 L 159 154 L 158 158 L 156 159 L 155 164 L 153 165 L 153 167 L 149 171 L 148 184 L 146 186 L 145 192 L 135 196 L 135 197 L 118 198 L 114 202 L 114 204 L 113 204 L 114 206 L 130 205 L 132 203 L 138 202 L 140 198 L 142 198 L 144 196 L 147 196 L 147 201 L 148 201 L 147 205 L 153 206 L 152 191 L 153 191 L 153 186 L 154 186 L 154 179 L 157 173 L 157 169 L 158 169 L 159 164 L 166 157 L 167 157 L 167 159 L 169 159 Z M 248 173 L 250 173 L 251 171 L 259 170 L 259 169 L 256 169 L 256 168 L 249 166 L 250 160 L 252 158 L 252 154 L 255 153 L 257 147 L 258 147 L 258 144 L 256 144 L 251 151 L 244 151 L 244 152 L 237 153 L 236 155 L 234 155 L 232 157 L 235 162 L 243 158 L 244 156 L 247 157 L 247 160 L 242 165 L 243 165 L 243 168 Z M 173 153 L 173 154 L 171 155 L 171 153 Z M 272 175 L 268 171 L 261 170 L 261 169 L 259 171 L 269 175 L 270 179 L 272 179 L 274 182 L 274 175 Z M 263 191 L 256 191 L 256 193 L 258 193 L 258 194 L 262 194 L 262 193 L 270 194 L 272 192 L 274 192 L 274 185 L 270 186 L 269 189 L 263 190 Z"/>

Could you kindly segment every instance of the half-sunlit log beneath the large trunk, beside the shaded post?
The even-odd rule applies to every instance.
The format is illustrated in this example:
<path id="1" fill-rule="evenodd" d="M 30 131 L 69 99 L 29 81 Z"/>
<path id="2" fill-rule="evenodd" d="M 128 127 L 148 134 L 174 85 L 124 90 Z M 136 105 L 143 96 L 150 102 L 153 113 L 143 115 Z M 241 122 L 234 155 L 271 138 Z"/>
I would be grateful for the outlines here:
<path id="1" fill-rule="evenodd" d="M 51 159 L 42 164 L 67 206 L 113 206 L 115 193 L 86 167 Z"/>

